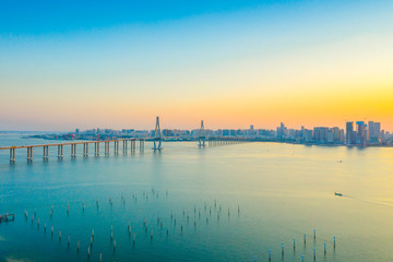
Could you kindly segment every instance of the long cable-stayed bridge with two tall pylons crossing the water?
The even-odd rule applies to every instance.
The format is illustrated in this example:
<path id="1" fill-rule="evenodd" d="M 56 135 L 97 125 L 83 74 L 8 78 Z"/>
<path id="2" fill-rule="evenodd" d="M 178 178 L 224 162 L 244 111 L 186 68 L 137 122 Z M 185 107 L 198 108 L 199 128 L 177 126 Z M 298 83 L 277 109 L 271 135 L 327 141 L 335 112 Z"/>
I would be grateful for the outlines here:
<path id="1" fill-rule="evenodd" d="M 224 136 L 212 136 L 206 138 L 203 120 L 201 121 L 201 129 L 199 132 L 198 139 L 198 145 L 200 147 L 207 146 L 219 146 L 219 145 L 228 145 L 228 144 L 239 144 L 249 142 L 247 139 L 238 139 L 238 138 L 224 138 Z M 33 162 L 33 148 L 43 148 L 44 160 L 49 159 L 49 147 L 57 147 L 58 148 L 58 155 L 57 157 L 59 159 L 63 158 L 63 147 L 70 146 L 71 148 L 71 157 L 76 157 L 76 146 L 83 145 L 83 156 L 88 156 L 88 148 L 91 144 L 94 144 L 94 155 L 99 156 L 99 148 L 100 144 L 104 143 L 104 154 L 109 155 L 110 152 L 110 143 L 114 144 L 114 152 L 115 154 L 118 154 L 120 151 L 120 142 L 122 142 L 122 151 L 123 154 L 128 153 L 128 147 L 130 143 L 130 150 L 131 152 L 136 151 L 136 142 L 139 141 L 139 150 L 140 152 L 144 151 L 144 143 L 145 141 L 153 141 L 154 147 L 152 150 L 154 151 L 160 151 L 162 142 L 165 141 L 166 138 L 162 135 L 160 128 L 159 128 L 159 118 L 156 118 L 156 128 L 155 128 L 155 134 L 152 138 L 131 138 L 131 139 L 117 139 L 117 140 L 97 140 L 97 141 L 80 141 L 80 142 L 68 142 L 68 143 L 52 143 L 52 144 L 38 144 L 38 145 L 19 145 L 19 146 L 5 146 L 0 147 L 0 151 L 10 151 L 10 163 L 15 163 L 15 151 L 16 150 L 27 150 L 27 162 Z M 207 142 L 207 143 L 206 143 Z"/>

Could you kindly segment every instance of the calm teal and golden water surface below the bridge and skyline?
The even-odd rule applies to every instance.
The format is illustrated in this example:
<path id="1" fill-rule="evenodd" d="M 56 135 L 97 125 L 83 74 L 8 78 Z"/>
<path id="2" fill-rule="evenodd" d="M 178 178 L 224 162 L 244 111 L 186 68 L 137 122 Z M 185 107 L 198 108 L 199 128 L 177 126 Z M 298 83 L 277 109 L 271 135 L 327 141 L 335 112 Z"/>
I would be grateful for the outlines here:
<path id="1" fill-rule="evenodd" d="M 33 143 L 51 141 L 0 136 L 0 146 Z M 35 150 L 33 164 L 20 150 L 15 165 L 0 152 L 0 213 L 16 215 L 0 224 L 0 261 L 87 261 L 93 228 L 90 261 L 269 261 L 270 249 L 272 261 L 313 261 L 313 248 L 317 261 L 393 261 L 393 148 L 164 146 L 109 157 L 80 146 L 76 159 L 64 147 L 63 160 L 52 148 L 49 162 Z"/>

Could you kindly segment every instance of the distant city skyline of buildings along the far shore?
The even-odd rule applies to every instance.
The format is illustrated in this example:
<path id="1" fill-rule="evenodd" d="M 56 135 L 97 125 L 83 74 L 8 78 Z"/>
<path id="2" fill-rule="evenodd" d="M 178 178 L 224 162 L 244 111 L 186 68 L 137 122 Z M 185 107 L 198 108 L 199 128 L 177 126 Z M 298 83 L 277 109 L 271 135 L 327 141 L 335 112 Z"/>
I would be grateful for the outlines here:
<path id="1" fill-rule="evenodd" d="M 63 134 L 47 134 L 44 139 L 61 140 L 114 140 L 124 138 L 153 138 L 155 130 L 135 130 L 135 129 L 91 129 Z M 193 141 L 201 135 L 200 129 L 180 130 L 163 129 L 162 134 L 167 140 Z M 391 145 L 393 134 L 381 130 L 381 123 L 374 121 L 348 121 L 345 130 L 338 127 L 314 127 L 313 129 L 288 129 L 281 123 L 275 130 L 254 129 L 251 124 L 249 129 L 218 129 L 204 130 L 207 138 L 242 138 L 255 141 L 276 141 L 303 144 L 336 144 L 336 145 Z"/>

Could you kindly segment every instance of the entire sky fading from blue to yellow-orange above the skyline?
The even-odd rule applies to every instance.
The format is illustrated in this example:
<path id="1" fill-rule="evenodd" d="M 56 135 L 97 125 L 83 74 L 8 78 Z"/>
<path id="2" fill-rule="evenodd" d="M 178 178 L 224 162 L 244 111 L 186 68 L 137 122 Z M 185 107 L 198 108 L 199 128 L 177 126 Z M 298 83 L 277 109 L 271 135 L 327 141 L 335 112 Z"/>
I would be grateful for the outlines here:
<path id="1" fill-rule="evenodd" d="M 393 1 L 0 1 L 0 130 L 393 131 Z"/>

